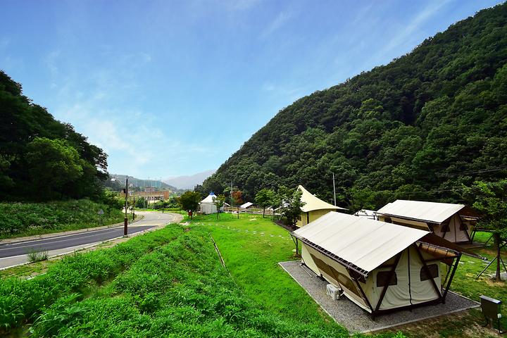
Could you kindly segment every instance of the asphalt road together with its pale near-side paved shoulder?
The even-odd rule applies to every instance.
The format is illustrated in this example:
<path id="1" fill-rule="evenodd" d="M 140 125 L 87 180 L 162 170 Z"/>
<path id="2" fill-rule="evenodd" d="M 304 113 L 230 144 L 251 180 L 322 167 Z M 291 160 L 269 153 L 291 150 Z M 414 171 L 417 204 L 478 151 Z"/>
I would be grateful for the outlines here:
<path id="1" fill-rule="evenodd" d="M 129 235 L 153 230 L 156 227 L 182 220 L 181 215 L 175 213 L 142 212 L 139 214 L 143 215 L 144 218 L 129 225 Z M 0 269 L 28 263 L 27 253 L 33 251 L 47 251 L 50 257 L 61 256 L 119 237 L 123 237 L 123 225 L 77 230 L 71 233 L 48 234 L 42 237 L 32 237 L 31 239 L 25 237 L 18 241 L 11 239 L 0 242 Z"/>

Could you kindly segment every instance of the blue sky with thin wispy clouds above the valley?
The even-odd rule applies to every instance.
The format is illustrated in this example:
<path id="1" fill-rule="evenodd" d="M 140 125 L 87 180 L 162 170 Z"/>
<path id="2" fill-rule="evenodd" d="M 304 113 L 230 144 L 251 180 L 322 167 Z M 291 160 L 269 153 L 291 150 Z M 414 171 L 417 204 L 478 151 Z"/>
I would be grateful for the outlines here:
<path id="1" fill-rule="evenodd" d="M 146 178 L 215 169 L 285 106 L 499 1 L 4 0 L 0 69 Z"/>

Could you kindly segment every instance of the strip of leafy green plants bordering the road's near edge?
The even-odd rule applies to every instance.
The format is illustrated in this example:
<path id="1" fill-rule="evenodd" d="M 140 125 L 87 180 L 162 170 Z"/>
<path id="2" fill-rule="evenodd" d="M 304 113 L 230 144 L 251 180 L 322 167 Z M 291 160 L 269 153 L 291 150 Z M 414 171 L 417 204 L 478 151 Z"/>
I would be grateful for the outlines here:
<path id="1" fill-rule="evenodd" d="M 167 227 L 149 232 L 111 249 L 76 253 L 49 266 L 32 280 L 4 278 L 0 283 L 1 330 L 32 323 L 44 309 L 72 294 L 84 296 L 90 287 L 111 280 L 154 248 L 175 239 L 183 230 Z"/>

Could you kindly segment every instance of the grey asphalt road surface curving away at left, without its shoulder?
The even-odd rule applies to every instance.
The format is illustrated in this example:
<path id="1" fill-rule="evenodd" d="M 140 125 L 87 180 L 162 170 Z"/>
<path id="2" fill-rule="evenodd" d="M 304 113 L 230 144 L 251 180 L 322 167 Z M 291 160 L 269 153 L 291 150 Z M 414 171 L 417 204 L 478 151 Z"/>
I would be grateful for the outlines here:
<path id="1" fill-rule="evenodd" d="M 144 215 L 144 219 L 129 225 L 129 234 L 147 230 L 158 225 L 165 225 L 174 222 L 175 218 L 177 217 L 175 214 L 170 213 L 145 212 L 139 214 Z M 49 251 L 51 254 L 51 251 L 83 246 L 85 244 L 104 242 L 108 239 L 122 236 L 123 225 L 119 227 L 109 227 L 101 230 L 88 230 L 76 234 L 55 234 L 44 239 L 32 239 L 23 242 L 4 244 L 0 243 L 0 258 L 22 256 L 32 251 Z"/>

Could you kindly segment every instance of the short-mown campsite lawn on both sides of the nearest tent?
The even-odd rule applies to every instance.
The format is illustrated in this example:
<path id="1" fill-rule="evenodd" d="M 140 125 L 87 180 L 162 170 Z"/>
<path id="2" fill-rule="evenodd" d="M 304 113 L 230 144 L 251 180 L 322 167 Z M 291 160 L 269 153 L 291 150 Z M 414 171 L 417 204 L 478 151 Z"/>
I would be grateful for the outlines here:
<path id="1" fill-rule="evenodd" d="M 269 218 L 256 215 L 222 214 L 220 220 L 214 215 L 197 216 L 194 225 L 210 227 L 211 233 L 223 255 L 232 277 L 252 299 L 278 313 L 303 321 L 330 320 L 324 315 L 306 292 L 284 273 L 277 262 L 297 259 L 294 243 L 287 230 L 275 225 Z M 488 234 L 480 233 L 476 239 L 486 242 Z M 494 258 L 491 247 L 475 250 L 480 256 Z M 507 254 L 504 253 L 507 259 Z M 506 283 L 496 283 L 489 277 L 475 277 L 485 268 L 487 262 L 470 256 L 463 256 L 458 266 L 451 289 L 458 294 L 478 301 L 481 294 L 496 299 L 507 299 Z M 490 267 L 487 273 L 494 273 Z M 485 275 L 484 275 L 485 276 Z M 507 309 L 502 311 L 507 317 Z M 384 332 L 401 331 L 408 337 L 496 337 L 494 330 L 483 328 L 480 311 L 470 310 L 422 322 L 394 327 Z M 507 327 L 507 320 L 503 320 Z"/>

